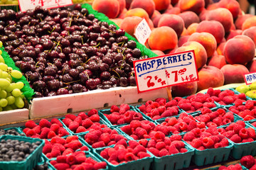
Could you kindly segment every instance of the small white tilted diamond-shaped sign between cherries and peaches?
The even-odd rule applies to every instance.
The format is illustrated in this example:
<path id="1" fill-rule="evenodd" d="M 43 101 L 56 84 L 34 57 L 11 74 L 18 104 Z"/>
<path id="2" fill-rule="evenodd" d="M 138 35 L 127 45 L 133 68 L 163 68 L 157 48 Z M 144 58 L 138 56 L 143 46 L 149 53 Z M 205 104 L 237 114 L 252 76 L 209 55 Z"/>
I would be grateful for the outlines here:
<path id="1" fill-rule="evenodd" d="M 146 23 L 146 20 L 143 19 L 137 26 L 134 35 L 139 41 L 139 43 L 145 45 L 146 40 L 149 38 L 151 33 L 151 29 L 149 28 L 149 24 Z"/>

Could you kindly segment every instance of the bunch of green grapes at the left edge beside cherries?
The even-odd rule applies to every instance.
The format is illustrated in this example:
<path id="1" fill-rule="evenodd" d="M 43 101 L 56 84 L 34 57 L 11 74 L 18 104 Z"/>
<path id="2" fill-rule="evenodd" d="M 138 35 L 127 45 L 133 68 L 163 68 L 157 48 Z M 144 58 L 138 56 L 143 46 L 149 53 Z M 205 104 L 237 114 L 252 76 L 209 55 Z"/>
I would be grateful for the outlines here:
<path id="1" fill-rule="evenodd" d="M 0 41 L 0 47 L 2 42 Z M 22 73 L 18 70 L 8 67 L 1 56 L 0 50 L 0 111 L 10 111 L 16 108 L 23 108 L 23 94 L 21 89 L 24 84 L 21 81 L 13 82 L 12 78 L 21 79 Z"/>

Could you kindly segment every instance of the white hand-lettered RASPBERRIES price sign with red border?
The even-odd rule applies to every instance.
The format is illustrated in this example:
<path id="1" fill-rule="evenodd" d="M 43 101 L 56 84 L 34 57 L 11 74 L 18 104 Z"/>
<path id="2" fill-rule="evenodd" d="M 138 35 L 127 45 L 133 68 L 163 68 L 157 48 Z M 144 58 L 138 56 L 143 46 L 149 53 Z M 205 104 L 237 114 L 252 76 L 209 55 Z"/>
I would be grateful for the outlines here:
<path id="1" fill-rule="evenodd" d="M 138 92 L 198 81 L 193 50 L 133 62 Z"/>

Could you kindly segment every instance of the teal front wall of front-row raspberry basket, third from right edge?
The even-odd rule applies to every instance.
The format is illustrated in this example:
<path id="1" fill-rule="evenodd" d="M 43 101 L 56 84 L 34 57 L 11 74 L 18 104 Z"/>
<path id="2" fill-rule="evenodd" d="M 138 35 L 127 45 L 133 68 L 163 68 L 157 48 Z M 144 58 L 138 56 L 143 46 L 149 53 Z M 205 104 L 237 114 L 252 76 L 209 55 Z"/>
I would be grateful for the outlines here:
<path id="1" fill-rule="evenodd" d="M 188 168 L 195 149 L 185 143 L 188 152 L 171 154 L 164 157 L 154 157 L 153 169 L 155 170 L 171 170 Z"/>

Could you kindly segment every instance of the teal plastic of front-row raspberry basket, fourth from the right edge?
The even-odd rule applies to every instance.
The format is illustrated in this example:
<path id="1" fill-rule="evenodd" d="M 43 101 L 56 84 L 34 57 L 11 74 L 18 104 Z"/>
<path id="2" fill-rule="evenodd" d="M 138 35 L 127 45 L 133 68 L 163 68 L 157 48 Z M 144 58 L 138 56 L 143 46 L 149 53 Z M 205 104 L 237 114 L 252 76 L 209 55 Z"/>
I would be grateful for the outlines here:
<path id="1" fill-rule="evenodd" d="M 114 147 L 114 146 L 111 146 Z M 109 167 L 109 170 L 151 170 L 151 166 L 154 162 L 154 155 L 151 154 L 151 152 L 147 151 L 148 154 L 151 155 L 151 157 L 144 157 L 142 159 L 137 159 L 136 161 L 131 161 L 123 164 L 114 165 L 107 161 L 107 159 L 104 159 L 100 156 L 100 152 L 104 150 L 105 148 L 97 148 L 94 150 L 94 154 L 96 157 L 100 158 L 102 161 L 107 162 L 107 165 Z"/>

